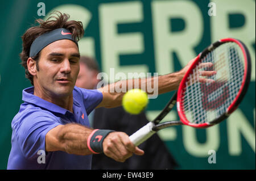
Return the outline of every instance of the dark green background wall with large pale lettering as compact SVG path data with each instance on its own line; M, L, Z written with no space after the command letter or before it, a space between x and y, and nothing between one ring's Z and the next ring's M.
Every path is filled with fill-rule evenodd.
M39 16L38 11L43 12L39 2L44 3L46 16ZM84 24L80 52L95 57L107 74L110 68L115 73L171 73L213 41L242 40L249 48L253 70L249 91L238 110L209 129L179 126L159 136L179 169L255 169L255 1L10 0L0 5L0 169L7 166L11 120L22 103L22 90L31 86L19 64L21 36L35 19L45 19L53 10L67 12ZM209 10L216 10L215 16ZM150 99L148 119L162 110L172 94ZM177 113L167 119L178 119ZM216 163L208 163L209 150L216 151Z

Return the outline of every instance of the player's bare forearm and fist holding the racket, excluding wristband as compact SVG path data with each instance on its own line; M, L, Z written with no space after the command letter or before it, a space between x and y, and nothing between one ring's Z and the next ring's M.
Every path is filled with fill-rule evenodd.
M79 124L58 125L46 134L46 151L65 151L69 154L93 154L87 140L93 129ZM111 132L103 141L104 154L115 161L124 162L131 155L142 155L143 150L134 146L123 132Z

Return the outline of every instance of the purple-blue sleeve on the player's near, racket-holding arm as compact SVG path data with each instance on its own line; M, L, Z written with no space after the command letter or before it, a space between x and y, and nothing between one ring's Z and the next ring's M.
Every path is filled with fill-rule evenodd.
M16 138L24 157L30 159L38 156L39 150L46 151L46 134L60 125L49 114L43 111L28 113L16 129Z

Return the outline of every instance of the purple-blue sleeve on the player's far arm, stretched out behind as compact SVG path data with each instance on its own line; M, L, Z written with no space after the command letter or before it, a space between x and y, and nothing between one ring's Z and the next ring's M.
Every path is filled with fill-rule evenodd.
M89 113L92 112L98 106L98 104L101 103L103 99L102 92L97 89L89 90L82 89L80 87L75 88L81 93L86 113L89 115Z

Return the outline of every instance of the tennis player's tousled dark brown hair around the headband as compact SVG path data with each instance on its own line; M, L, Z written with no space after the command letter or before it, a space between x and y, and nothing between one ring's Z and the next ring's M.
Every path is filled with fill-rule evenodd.
M30 57L30 47L33 41L43 35L46 32L58 29L58 28L66 28L69 30L73 35L73 39L79 41L84 36L84 28L82 27L82 22L77 22L75 20L68 20L68 14L62 14L59 11L54 11L52 14L56 16L50 16L46 21L43 19L36 19L35 22L39 23L39 26L34 26L29 28L24 35L22 36L22 52L19 54L20 59L22 60L21 64L25 68L26 78L28 78L32 85L33 82L33 75L30 74L27 68L27 60ZM39 70L38 61L40 58L40 52L36 54L36 56L31 57L33 60L36 61L36 69Z

